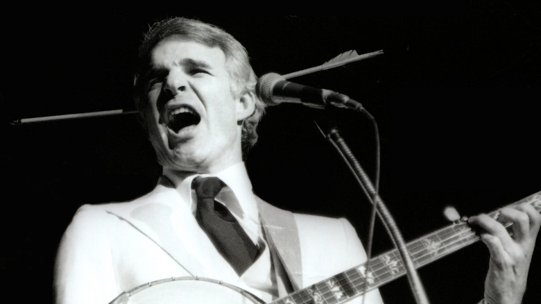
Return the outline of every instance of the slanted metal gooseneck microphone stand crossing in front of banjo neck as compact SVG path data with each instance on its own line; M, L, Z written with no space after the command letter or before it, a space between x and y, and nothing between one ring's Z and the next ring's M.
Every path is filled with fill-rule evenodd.
M355 110L358 110L359 112L364 112L365 115L368 115L370 119L374 120L372 115L370 115L370 113L368 113L364 108L357 107L355 108ZM393 244L395 244L395 247L397 248L402 257L402 261L404 262L406 274L410 283L411 290L413 292L413 296L415 296L416 303L429 304L427 294L426 292L424 292L424 287L422 286L422 282L418 276L417 271L415 270L413 261L411 260L411 256L406 248L406 243L404 242L402 233L400 233L400 230L395 223L395 219L393 219L393 216L388 211L384 201L381 199L374 185L370 181L368 174L366 174L361 164L354 157L349 146L347 146L347 143L338 132L338 128L336 126L329 125L328 121L325 120L325 127L322 128L317 121L314 120L314 122L316 123L316 126L322 133L323 137L329 140L332 146L334 146L338 153L340 153L347 166L350 167L355 178L357 178L357 182L359 183L359 185L361 185L365 194L368 196L369 201L372 203L372 205L374 205L374 208L376 208L376 211L379 214L381 220L383 221L384 226L388 234L390 235L391 240L393 241ZM367 265L366 268L368 269L369 267L370 265Z

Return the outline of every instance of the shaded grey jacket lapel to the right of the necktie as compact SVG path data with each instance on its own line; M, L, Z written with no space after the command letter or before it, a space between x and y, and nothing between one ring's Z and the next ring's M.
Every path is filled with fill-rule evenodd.
M267 242L277 253L294 289L302 287L302 257L293 213L276 208L257 197L261 225Z

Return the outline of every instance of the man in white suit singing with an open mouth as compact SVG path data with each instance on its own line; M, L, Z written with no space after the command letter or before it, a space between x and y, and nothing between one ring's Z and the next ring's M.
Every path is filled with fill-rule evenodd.
M271 302L366 262L347 220L293 214L253 194L243 157L257 141L265 110L256 83L246 50L220 28L183 18L151 27L141 44L135 100L163 175L153 191L134 201L83 205L76 212L58 251L58 303L110 303L137 287L151 290L149 282L173 278L194 278L173 292L181 296L193 294L190 284L200 278ZM227 205L221 210L230 210L228 221L238 221L255 248L252 264L242 270L203 230L198 199L200 181L208 176L219 178L216 201ZM482 239L491 253L485 297L490 304L519 303L541 216L521 205L503 210L500 219L515 223L513 237L484 214L470 218L486 230ZM305 295L316 303L320 296L363 300L341 283L328 284L327 295L314 289ZM223 303L225 294L213 287L194 297L214 296L214 303ZM377 289L363 296L364 303L383 303Z

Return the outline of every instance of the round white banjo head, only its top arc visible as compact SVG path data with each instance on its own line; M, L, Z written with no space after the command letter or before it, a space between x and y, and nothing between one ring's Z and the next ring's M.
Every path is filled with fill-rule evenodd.
M198 277L155 280L123 292L109 304L264 304L250 292L234 285Z

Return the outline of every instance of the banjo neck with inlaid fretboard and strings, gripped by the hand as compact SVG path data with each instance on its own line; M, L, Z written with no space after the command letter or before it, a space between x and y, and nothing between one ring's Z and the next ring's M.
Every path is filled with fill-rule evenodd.
M506 207L519 203L529 203L535 210L541 212L541 192L531 194ZM501 209L503 208L490 212L488 215L496 219ZM509 228L511 223L506 223L504 226ZM406 244L406 248L411 255L415 269L418 269L465 246L474 244L479 239L479 235L472 230L465 219L461 219L450 226L409 242ZM270 304L344 303L405 274L406 267L399 251L395 249L374 257L357 267L338 273L336 276L293 292Z

